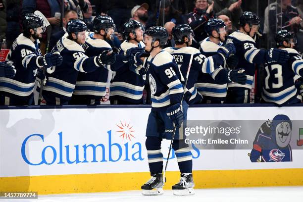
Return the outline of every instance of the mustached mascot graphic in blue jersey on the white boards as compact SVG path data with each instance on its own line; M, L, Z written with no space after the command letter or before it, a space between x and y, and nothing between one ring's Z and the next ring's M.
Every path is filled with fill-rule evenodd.
M267 120L259 128L253 150L249 153L252 162L293 161L291 141L292 121L279 114L272 121Z

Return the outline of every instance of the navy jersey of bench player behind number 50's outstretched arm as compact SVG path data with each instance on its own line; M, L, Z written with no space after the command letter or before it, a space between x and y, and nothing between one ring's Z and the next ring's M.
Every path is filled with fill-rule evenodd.
M88 57L99 56L104 50L111 50L110 45L102 40L95 39L94 33L87 32L85 44L82 45ZM90 99L101 99L106 94L108 70L98 68L93 72L79 72L74 95L85 96Z

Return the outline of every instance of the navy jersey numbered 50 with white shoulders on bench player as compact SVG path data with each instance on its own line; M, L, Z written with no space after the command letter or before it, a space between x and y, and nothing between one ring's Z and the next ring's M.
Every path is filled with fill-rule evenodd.
M79 72L92 72L99 68L98 57L88 57L84 49L76 42L69 40L64 35L53 48L63 57L60 66L47 69L48 81L43 89L43 94L66 101L71 99L75 89ZM101 65L101 68L104 66Z

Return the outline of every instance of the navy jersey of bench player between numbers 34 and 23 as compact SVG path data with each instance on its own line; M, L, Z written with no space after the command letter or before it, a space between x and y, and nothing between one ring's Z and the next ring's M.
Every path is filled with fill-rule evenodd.
M200 45L200 51L206 57L217 53L222 43L215 44L209 40L209 37L203 40ZM213 73L199 75L198 82L195 85L202 96L207 96L211 100L224 101L227 93L227 83L222 82L225 79L226 70L220 66ZM225 79L226 80L226 79Z

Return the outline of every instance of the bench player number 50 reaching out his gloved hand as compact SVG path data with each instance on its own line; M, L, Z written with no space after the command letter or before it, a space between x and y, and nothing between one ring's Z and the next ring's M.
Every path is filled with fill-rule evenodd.
M63 56L62 64L47 70L48 81L43 89L43 98L51 105L69 103L79 71L93 72L115 61L115 54L110 50L94 57L85 55L81 44L85 43L87 26L83 21L69 21L66 30L68 36L64 35L53 49Z

